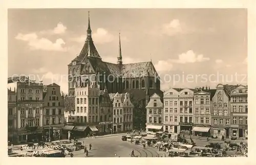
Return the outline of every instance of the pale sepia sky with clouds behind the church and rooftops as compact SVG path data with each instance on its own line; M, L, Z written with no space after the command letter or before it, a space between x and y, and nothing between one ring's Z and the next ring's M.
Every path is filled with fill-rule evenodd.
M123 63L152 61L162 90L247 84L246 9L9 9L8 77L30 75L67 93L89 10L102 60L116 63L120 32Z

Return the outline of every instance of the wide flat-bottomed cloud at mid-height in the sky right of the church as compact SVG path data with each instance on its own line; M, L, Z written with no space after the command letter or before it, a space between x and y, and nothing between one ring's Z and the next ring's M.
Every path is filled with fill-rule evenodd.
M179 59L170 59L173 63L195 63L195 62L203 62L208 61L210 58L204 57L204 55L196 55L192 50L187 51L186 53L182 53L179 55Z

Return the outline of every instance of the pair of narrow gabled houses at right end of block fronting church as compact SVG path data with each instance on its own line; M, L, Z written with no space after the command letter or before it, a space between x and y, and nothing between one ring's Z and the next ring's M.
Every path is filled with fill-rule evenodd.
M113 101L113 131L131 131L133 129L133 104L129 93L110 93Z

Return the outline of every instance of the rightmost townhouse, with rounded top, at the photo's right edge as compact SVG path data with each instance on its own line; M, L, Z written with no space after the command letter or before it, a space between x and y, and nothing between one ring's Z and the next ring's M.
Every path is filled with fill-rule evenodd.
M248 138L248 93L247 86L240 85L230 93L231 136Z

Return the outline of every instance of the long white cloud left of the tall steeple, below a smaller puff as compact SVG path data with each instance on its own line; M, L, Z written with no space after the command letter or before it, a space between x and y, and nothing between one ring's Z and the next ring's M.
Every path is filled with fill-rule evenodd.
M52 42L47 38L39 38L36 33L29 33L29 34L18 33L15 39L28 42L30 50L59 51L59 52L67 51L66 48L63 48L63 45L65 45L65 42L61 38L58 38L56 39L55 42Z

